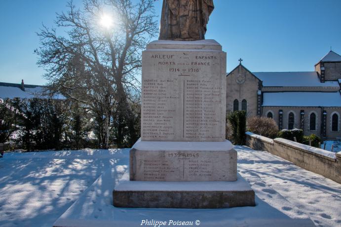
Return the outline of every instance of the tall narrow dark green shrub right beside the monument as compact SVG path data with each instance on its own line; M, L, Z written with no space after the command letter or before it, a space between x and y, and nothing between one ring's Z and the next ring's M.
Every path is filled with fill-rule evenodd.
M236 145L245 144L246 111L234 111L227 116L232 128L232 142Z

